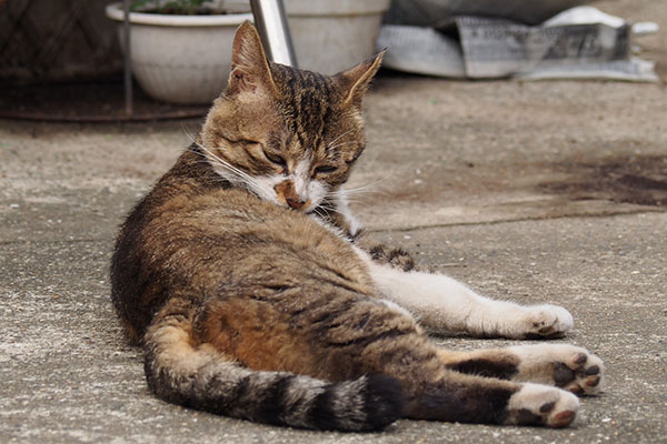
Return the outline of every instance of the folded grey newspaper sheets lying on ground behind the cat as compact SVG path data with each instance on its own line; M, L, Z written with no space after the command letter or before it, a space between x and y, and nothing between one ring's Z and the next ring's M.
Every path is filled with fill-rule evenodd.
M633 34L657 26L631 26L596 8L571 8L539 26L472 16L438 23L438 29L384 26L378 39L379 48L388 48L384 65L470 79L658 81L654 62L631 56Z

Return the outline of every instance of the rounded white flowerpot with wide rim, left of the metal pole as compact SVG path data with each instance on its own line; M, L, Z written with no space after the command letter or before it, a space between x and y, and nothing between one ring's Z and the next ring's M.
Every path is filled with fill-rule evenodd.
M130 54L135 78L153 99L210 103L225 89L231 42L239 24L252 20L247 1L138 0L130 7ZM119 22L121 2L107 7Z

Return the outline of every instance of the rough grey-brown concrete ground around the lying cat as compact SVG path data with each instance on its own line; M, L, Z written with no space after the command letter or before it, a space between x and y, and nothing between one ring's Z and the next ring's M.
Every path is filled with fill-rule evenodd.
M664 67L658 3L599 2L658 21L641 43ZM385 73L366 110L352 186L369 185L356 209L370 235L489 296L569 309L576 326L561 342L607 365L605 393L583 400L573 427L399 421L370 435L315 433L155 398L112 311L108 262L123 215L199 122L0 121L0 442L667 442L664 84Z

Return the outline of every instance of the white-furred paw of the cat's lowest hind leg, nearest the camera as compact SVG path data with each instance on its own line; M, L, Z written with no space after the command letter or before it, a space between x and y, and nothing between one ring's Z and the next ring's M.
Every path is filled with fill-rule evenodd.
M508 424L566 427L577 416L579 400L560 389L524 384L508 403Z

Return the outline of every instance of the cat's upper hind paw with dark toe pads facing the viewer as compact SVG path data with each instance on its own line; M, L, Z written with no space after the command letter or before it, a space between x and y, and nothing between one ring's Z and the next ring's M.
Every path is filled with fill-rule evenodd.
M554 362L556 385L578 395L595 395L603 390L604 364L584 349L571 347L569 356Z

